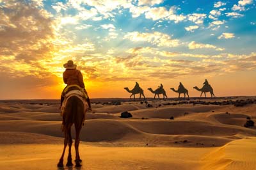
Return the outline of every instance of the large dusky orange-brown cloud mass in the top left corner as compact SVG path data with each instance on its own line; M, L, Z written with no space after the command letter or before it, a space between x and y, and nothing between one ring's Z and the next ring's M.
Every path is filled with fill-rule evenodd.
M20 61L35 61L49 55L54 37L54 22L36 8L22 1L4 1L0 8L0 53Z

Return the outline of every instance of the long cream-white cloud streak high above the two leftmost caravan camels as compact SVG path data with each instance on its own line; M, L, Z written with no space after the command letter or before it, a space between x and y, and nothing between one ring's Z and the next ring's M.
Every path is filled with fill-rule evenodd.
M139 33L138 31L127 33L124 39L129 39L132 42L149 42L159 47L177 47L179 45L179 40L172 39L170 35L153 32L153 33Z

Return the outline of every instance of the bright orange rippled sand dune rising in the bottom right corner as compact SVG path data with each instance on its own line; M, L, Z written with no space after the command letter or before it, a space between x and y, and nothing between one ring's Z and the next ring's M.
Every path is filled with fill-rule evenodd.
M256 137L232 141L202 159L202 169L241 170L256 168Z

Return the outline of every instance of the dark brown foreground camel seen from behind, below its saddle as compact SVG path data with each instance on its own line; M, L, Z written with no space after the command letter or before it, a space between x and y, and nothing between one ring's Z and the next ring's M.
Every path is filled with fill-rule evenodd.
M86 111L88 109L88 105L85 106ZM71 157L71 146L72 146L72 137L71 137L71 127L74 123L75 128L76 128L76 141L75 141L75 149L76 149L76 167L81 166L82 160L80 159L79 156L79 134L83 125L84 121L84 104L83 102L77 98L76 96L72 96L68 99L65 111L63 112L63 118L62 118L62 130L65 135L64 139L64 148L63 148L63 153L61 155L60 161L58 163L58 167L63 167L63 157L65 154L65 150L68 144L68 159L67 159L67 164L66 166L73 166L72 164L72 157Z

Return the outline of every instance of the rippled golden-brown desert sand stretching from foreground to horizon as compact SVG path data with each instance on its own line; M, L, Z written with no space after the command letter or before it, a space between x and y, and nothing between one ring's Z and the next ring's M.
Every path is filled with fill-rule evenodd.
M93 100L80 135L83 166L63 169L256 169L256 128L243 127L246 117L255 121L256 104L193 104L196 100ZM58 169L63 150L58 107L58 100L0 101L1 169ZM132 118L120 118L124 111ZM74 145L72 154L74 160Z

